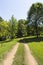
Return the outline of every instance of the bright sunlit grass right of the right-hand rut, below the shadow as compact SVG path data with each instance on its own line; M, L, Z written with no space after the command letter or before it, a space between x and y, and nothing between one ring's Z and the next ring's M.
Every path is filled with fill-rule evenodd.
M32 42L28 44L31 53L36 58L39 65L43 65L43 42Z

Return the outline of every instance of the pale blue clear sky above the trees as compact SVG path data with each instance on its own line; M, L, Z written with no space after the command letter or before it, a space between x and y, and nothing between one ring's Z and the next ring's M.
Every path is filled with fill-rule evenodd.
M0 0L0 16L9 20L12 15L19 19L26 19L30 6L35 2L43 3L43 0Z

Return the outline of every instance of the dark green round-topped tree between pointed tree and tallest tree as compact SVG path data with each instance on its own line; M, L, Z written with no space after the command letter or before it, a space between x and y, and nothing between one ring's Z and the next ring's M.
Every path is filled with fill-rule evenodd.
M25 22L26 21L23 19L20 19L18 21L18 32L17 32L18 37L23 37L27 35Z

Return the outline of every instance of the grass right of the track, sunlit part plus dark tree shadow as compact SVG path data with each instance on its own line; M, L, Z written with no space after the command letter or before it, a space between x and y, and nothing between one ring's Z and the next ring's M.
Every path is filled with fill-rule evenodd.
M36 58L39 65L43 65L43 36L36 38L35 36L25 37L19 40L20 43L28 43L31 53Z

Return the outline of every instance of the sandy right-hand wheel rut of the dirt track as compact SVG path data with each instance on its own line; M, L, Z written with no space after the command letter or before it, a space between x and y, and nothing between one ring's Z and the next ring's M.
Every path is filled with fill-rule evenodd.
M25 46L25 63L26 65L38 65L35 58L32 56L29 46L27 44L24 44Z

